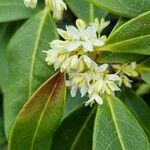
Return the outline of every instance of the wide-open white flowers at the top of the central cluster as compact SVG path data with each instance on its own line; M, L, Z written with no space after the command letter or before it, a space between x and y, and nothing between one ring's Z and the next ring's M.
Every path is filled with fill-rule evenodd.
M66 47L67 51L75 51L82 47L84 52L93 51L96 46L103 46L104 41L97 38L97 27L91 25L86 27L83 20L76 21L77 28L74 26L67 26L66 30L57 29L58 33L68 41Z

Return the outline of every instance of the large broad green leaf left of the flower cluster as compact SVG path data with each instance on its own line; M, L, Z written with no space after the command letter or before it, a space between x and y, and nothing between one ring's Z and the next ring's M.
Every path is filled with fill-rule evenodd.
M9 85L4 103L7 135L24 103L49 76L54 74L52 67L45 62L46 54L43 50L48 50L48 42L55 38L55 23L49 10L45 9L29 19L10 41Z

